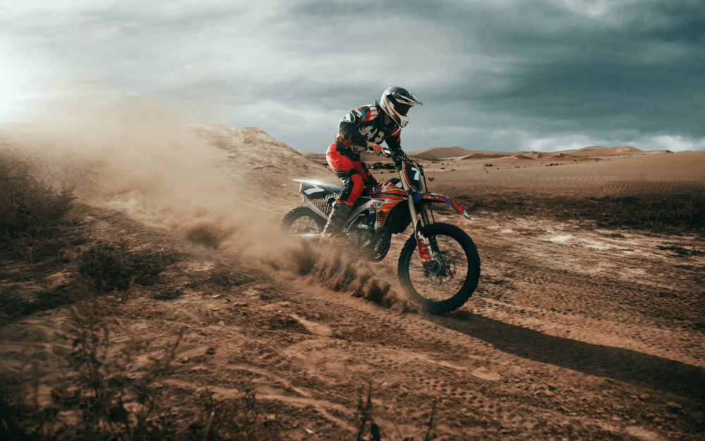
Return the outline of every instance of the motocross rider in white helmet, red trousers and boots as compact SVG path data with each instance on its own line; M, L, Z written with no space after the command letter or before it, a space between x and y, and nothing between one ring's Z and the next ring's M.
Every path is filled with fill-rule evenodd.
M333 210L328 219L321 241L344 243L341 226L357 198L360 198L364 186L374 186L377 181L360 159L364 151L384 154L381 145L386 140L391 150L400 147L401 129L409 122L407 111L414 104L423 104L402 87L387 87L379 104L357 107L343 116L336 140L328 147L326 160L331 170L343 181L343 192L333 203Z

